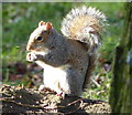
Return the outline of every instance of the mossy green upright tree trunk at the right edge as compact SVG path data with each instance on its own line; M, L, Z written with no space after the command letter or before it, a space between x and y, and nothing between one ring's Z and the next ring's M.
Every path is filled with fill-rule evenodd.
M120 34L120 33L119 33ZM125 3L123 35L116 49L110 104L113 113L132 114L132 2Z

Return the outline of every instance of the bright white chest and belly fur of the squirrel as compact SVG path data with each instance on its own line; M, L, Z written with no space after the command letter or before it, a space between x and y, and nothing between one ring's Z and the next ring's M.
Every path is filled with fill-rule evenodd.
M53 91L57 90L63 90L65 92L69 91L67 79L68 77L67 70L69 69L69 65L54 67L45 64L42 61L36 61L36 63L44 69L43 82L46 87L50 87Z

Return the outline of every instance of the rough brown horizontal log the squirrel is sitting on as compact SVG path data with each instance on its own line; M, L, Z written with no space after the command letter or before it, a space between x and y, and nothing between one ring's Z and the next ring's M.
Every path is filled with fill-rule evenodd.
M40 92L36 90L20 86L3 85L0 87L0 106L2 113L13 114L38 114L56 113L59 115L73 113L110 113L110 105L107 102L85 100L80 97L66 96L62 98L54 92Z

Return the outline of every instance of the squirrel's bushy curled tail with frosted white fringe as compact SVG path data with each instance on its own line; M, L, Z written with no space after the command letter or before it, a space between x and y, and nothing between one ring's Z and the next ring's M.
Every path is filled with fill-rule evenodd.
M100 43L100 30L106 25L106 15L92 7L73 9L62 23L62 32L68 39L75 39L91 48ZM92 51L90 51L92 52Z

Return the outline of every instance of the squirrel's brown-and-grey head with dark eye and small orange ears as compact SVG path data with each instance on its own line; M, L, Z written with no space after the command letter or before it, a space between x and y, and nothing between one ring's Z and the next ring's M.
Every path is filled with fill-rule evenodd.
M51 30L53 29L52 23L41 21L38 27L31 33L30 40L28 42L28 51L41 51L44 50L44 45L48 40Z

